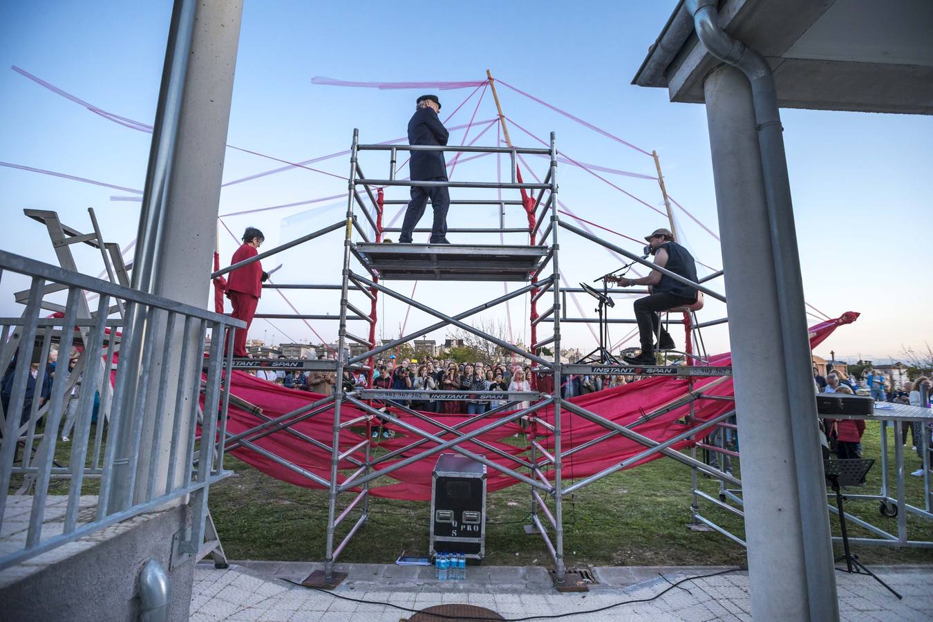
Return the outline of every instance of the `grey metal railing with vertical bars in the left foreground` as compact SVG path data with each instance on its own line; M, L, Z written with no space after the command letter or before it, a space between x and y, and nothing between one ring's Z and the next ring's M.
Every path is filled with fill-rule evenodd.
M0 569L188 495L192 524L175 552L196 553L208 488L227 475L228 329L244 323L0 251L0 280L21 277L25 311L0 318ZM40 317L49 285L64 311ZM115 301L123 316L111 319ZM59 352L54 366L49 352ZM118 366L121 354L142 364Z

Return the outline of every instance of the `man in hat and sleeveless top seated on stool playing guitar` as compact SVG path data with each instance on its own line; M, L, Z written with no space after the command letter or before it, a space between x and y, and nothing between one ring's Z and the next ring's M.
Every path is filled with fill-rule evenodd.
M654 265L679 274L696 283L697 265L689 251L674 241L674 234L666 228L655 229L645 240L650 245L651 255L654 256ZM647 250L647 249L646 249ZM659 311L667 311L675 307L692 305L697 301L697 289L688 284L675 281L658 270L651 270L648 276L638 279L616 277L613 279L623 287L632 285L650 285L650 292L646 297L638 298L634 303L635 321L638 323L638 336L641 339L641 354L638 356L625 356L625 361L632 365L656 365L654 357L654 336L658 334L660 318ZM658 339L659 350L674 350L674 339L668 335L661 326L661 335Z

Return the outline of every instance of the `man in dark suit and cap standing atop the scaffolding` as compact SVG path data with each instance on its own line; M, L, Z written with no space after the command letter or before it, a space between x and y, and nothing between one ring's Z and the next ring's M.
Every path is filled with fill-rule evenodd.
M440 122L440 100L437 95L422 95L418 98L414 115L409 121L409 145L447 145L450 136L447 128ZM411 181L447 181L447 163L443 151L411 151ZM434 208L434 222L431 225L432 244L447 242L447 209L451 205L451 195L447 187L412 186L411 200L405 211L402 232L398 242L411 243L411 232L421 216L425 214L425 205L430 198Z

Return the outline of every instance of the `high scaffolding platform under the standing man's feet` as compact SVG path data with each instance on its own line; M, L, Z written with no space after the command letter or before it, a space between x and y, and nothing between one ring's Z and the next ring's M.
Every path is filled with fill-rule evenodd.
M543 246L356 243L354 255L383 281L531 280L549 255Z

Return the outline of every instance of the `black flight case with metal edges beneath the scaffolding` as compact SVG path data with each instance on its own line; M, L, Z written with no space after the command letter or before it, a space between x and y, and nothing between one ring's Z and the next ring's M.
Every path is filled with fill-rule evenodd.
M486 465L456 453L442 453L431 487L431 556L486 555Z

